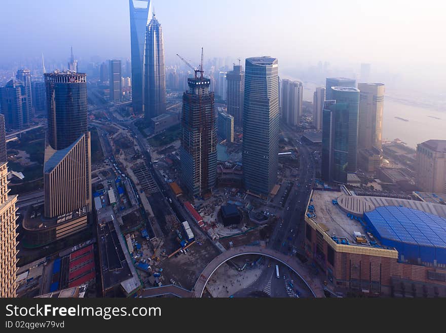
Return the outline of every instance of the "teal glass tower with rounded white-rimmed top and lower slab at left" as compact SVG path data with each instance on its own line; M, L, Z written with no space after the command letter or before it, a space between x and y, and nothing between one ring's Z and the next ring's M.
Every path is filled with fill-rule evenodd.
M357 167L359 90L330 87L329 96L322 119L322 178L347 183L347 173Z

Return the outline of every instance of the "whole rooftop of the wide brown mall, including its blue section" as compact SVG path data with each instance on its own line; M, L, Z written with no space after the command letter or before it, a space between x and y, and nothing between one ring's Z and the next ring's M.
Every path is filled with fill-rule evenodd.
M410 228L410 221L414 224L413 221L417 220L418 222L415 224L423 225L423 227L420 227L423 230L411 231L420 235L416 239L421 240L423 235L428 235L429 228L431 230L435 229L438 234L437 237L432 236L431 242L440 244L444 241L446 246L446 234L444 234L446 232L446 205L406 199L348 196L342 192L333 191L313 191L311 199L310 206L314 206L312 220L330 237L346 238L349 244L361 245L356 243L354 233L360 232L366 236L364 220L367 216L372 218L373 221L376 218L377 226L379 226L380 223L383 224L384 222L380 221L378 217L384 215L384 221L394 224L394 228L398 230L403 228L400 225L406 226L407 229ZM397 218L393 215L393 212L397 215ZM311 215L313 211L307 209L307 213ZM420 219L423 219L423 221L420 222ZM407 222L405 222L406 220ZM443 227L435 227L434 224L444 225L442 225ZM381 229L377 227L376 230ZM384 231L382 233L387 235ZM400 234L401 237L405 235L404 232ZM366 238L370 240L367 236Z

